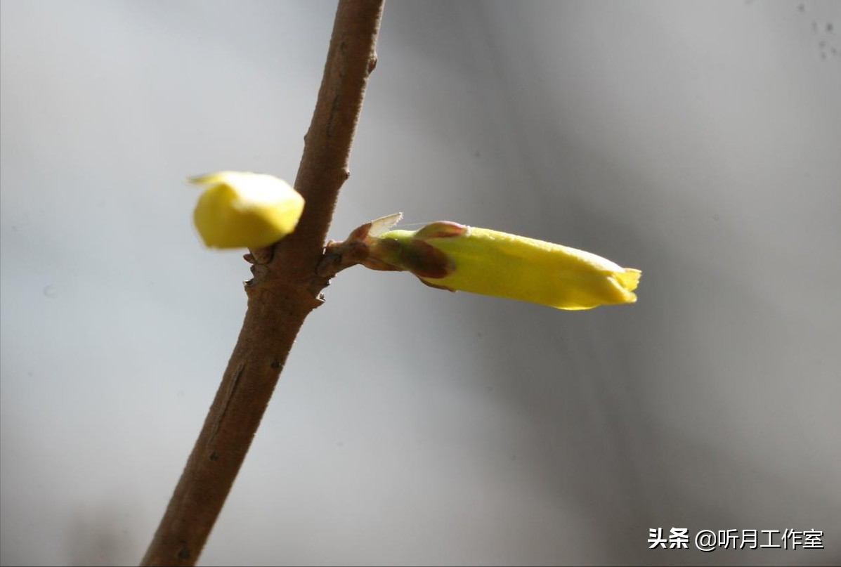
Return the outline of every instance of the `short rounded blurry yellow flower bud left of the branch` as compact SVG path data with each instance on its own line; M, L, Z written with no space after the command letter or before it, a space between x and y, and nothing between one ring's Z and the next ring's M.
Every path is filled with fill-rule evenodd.
M204 244L262 248L295 230L304 198L283 179L251 172L216 172L189 179L204 185L193 213Z

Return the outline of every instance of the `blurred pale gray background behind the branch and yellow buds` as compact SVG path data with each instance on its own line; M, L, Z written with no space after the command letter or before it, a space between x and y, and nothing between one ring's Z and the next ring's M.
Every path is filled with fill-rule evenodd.
M294 178L335 4L0 7L0 563L136 564L246 305L182 180ZM839 50L838 2L388 3L331 236L533 236L639 301L341 273L201 563L841 563Z

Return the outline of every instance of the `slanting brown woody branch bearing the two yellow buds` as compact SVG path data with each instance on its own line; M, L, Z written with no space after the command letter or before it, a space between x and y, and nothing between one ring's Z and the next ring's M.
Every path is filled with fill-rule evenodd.
M375 53L384 0L341 0L295 188L296 231L252 251L248 309L204 427L141 565L193 565L257 432L288 352L327 283L315 268L347 165Z

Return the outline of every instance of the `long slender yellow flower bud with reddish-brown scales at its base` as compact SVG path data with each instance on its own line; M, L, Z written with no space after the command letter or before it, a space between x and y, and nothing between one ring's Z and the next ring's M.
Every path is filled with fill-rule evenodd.
M436 288L565 310L637 300L641 272L590 252L446 221L419 231L383 231L397 220L389 215L352 233L348 241L355 238L358 246L361 240L367 249L362 264L409 271Z

